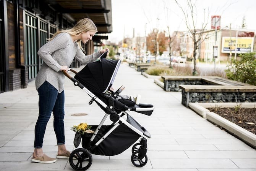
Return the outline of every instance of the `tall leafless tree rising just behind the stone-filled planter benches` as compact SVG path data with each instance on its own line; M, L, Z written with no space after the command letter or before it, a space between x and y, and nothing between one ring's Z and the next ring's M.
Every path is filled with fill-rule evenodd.
M193 58L194 58L194 69L193 69L193 76L197 75L196 71L196 51L199 47L199 43L202 43L207 36L205 36L202 39L202 35L204 31L206 30L207 22L209 19L209 9L206 11L204 9L204 20L201 25L201 28L196 29L196 23L197 23L197 9L196 9L196 2L192 2L192 0L186 0L188 5L188 10L185 10L177 0L175 0L181 11L183 12L183 15L185 17L185 23L186 27L188 28L189 35L194 43L194 50L193 50Z

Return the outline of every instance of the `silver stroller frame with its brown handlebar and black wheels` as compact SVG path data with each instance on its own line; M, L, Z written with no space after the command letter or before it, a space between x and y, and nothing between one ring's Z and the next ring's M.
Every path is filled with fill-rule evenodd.
M73 72L73 73L75 73L75 74L77 73L73 69L69 68L68 70ZM88 148L87 147L84 148L84 146L83 146L83 139L82 139L83 149L81 149L81 148L75 149L71 153L70 158L69 158L71 167L73 169L75 169L75 170L86 170L86 169L88 169L91 166L91 164L92 164L91 152L94 149L96 149L121 124L125 124L128 128L130 128L132 131L137 133L138 137L142 137L139 143L136 143L136 144L134 144L134 142L132 143L134 145L132 147L131 162L136 167L142 167L142 166L146 165L146 163L147 163L147 155L146 155L146 152L147 152L147 139L151 138L151 135L150 135L150 133L144 127L141 127L141 125L137 121L133 120L133 125L132 125L127 120L125 120L123 117L126 116L127 118L129 117L129 118L133 119L126 111L152 111L152 110L154 110L154 106L149 106L149 107L146 107L146 108L145 107L140 108L139 106L138 106L138 108L137 107L125 106L126 111L122 111L119 114L117 114L113 110L113 106L106 105L102 100L100 100L99 97L97 97L96 95L94 95L94 93L92 93L90 90L88 90L86 87L84 87L78 80L76 80L75 78L71 77L66 71L63 71L63 73L71 81L73 81L75 86L80 87L82 90L84 90L92 98L91 101L89 101L89 105L91 105L93 101L96 101L98 103L98 105L101 105L105 109L104 110L105 111L105 115L104 115L103 119L100 121L99 125L96 125L97 128L96 128L95 132L93 133L93 135L90 138L89 147ZM113 97L109 97L110 101L111 100L115 100L117 95L120 92L122 92L122 90L123 89L121 89L121 90L118 89L113 94ZM146 104L143 104L143 105L146 105ZM102 128L102 126L105 123L105 120L107 119L108 116L110 116L110 120L113 122L111 124L113 127L110 128L110 130L108 130L105 133L104 136L99 138L95 144L93 144L92 142L94 142L96 136L98 135L100 129ZM137 140L138 140L138 138L136 139L136 141ZM118 154L120 154L122 152L118 152ZM99 154L99 155L117 155L117 154ZM74 159L77 160L78 163L75 164L74 163ZM88 162L86 166L83 166L83 162L84 161Z

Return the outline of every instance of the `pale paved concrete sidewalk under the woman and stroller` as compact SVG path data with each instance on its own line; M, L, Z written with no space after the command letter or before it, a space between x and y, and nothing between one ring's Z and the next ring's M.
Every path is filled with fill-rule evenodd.
M131 163L131 147L120 155L92 155L94 171L256 171L256 150L181 105L180 92L165 92L153 79L122 64L113 87L124 85L122 94L141 94L141 103L155 106L152 116L131 113L150 133L147 164ZM68 150L75 149L72 125L98 125L104 111L73 82L65 81L65 136ZM28 88L0 94L0 170L73 170L68 160L52 164L31 162L34 125L38 115L38 95L34 81ZM86 116L71 116L87 114ZM44 152L56 157L57 144L51 118L44 137Z

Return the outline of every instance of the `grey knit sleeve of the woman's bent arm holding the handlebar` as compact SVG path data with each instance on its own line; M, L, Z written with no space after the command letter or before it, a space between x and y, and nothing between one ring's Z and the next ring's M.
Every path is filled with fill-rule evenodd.
M44 44L44 46L39 49L37 54L42 58L46 65L58 72L60 71L61 66L55 59L53 59L52 53L59 49L65 48L69 45L69 42L70 36L68 33L59 33L55 38L53 38L53 40Z

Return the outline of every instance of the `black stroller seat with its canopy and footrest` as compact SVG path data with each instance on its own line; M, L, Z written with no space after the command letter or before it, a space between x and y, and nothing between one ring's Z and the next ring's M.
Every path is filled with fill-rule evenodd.
M116 113L128 110L150 116L154 110L153 105L136 105L129 99L117 100L119 93L124 89L123 86L112 95L107 95L106 92L109 90L109 87L112 87L120 64L121 60L108 60L104 57L100 57L100 60L88 63L81 71L76 73L74 78L79 82L78 84L82 84L92 93L92 100L89 104L91 104L96 98L99 98L105 105L109 106L109 108L112 106ZM109 112L105 106L102 106L100 103L97 104L105 112Z

